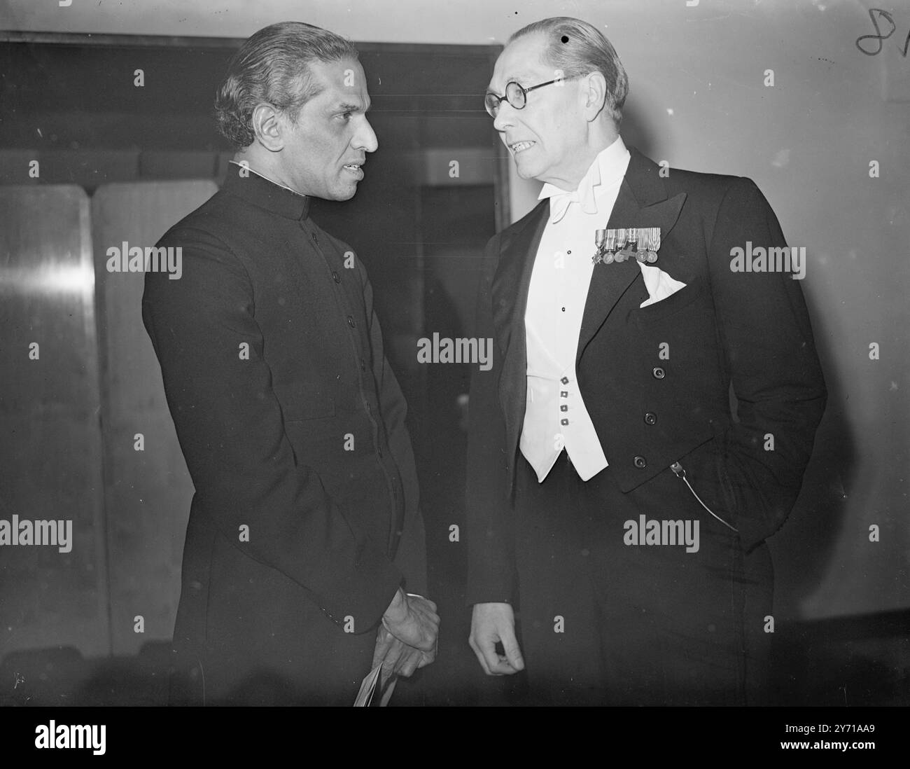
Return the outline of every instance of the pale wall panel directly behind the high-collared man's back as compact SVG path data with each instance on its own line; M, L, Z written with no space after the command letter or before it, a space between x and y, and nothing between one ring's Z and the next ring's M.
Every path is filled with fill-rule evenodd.
M101 350L105 507L116 654L171 637L193 485L142 324L145 274L108 272L107 249L154 246L217 191L211 181L99 187L92 198ZM143 450L136 450L141 434ZM144 621L135 632L135 618Z

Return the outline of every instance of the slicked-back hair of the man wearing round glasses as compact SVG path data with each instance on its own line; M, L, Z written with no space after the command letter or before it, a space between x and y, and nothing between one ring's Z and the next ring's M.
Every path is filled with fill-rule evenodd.
M595 70L604 76L607 81L604 109L619 125L622 106L629 95L629 76L616 49L601 30L571 16L553 16L521 27L509 42L535 33L545 35L547 40L544 63L561 70L562 77L590 75Z

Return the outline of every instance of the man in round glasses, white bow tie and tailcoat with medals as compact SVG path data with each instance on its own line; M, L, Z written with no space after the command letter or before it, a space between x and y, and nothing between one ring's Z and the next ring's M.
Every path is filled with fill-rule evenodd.
M490 79L519 176L545 184L479 292L498 347L470 391L470 645L539 702L759 703L765 539L826 398L801 268L750 179L624 146L627 90L565 17L512 35Z

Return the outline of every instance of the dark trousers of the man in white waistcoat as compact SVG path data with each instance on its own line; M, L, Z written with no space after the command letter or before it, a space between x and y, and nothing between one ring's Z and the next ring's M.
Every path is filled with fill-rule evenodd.
M669 469L623 494L563 451L542 483L520 458L519 625L531 697L551 704L762 703L773 575ZM631 545L625 521L699 521L699 550Z

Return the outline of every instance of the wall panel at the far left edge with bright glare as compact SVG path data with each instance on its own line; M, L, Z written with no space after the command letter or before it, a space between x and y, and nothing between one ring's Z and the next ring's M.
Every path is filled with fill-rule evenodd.
M0 546L0 659L56 646L106 654L88 199L79 187L0 187L0 222L0 521L72 527L68 552Z

